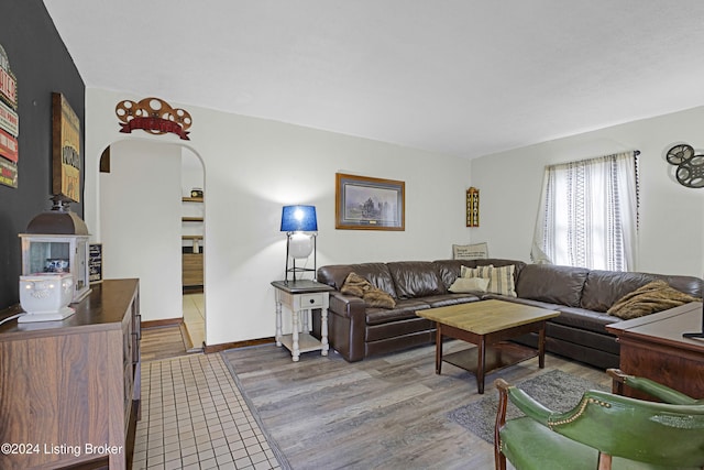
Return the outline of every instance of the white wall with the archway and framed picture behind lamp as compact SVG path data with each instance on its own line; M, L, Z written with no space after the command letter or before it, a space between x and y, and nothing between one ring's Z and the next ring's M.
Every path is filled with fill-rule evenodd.
M193 117L190 141L143 131L119 133L116 103L142 98L86 91L85 220L94 230L113 217L99 201L103 183L98 178L99 156L110 143L129 139L185 144L202 160L207 345L274 335L270 283L284 276L285 236L279 232L284 205L317 207L319 266L450 258L452 243L469 242L466 160L175 102L170 105L182 106ZM404 181L406 230L336 230L336 172ZM135 190L143 201L154 193L144 186ZM95 240L106 237L103 228L94 230ZM156 264L145 269L162 270Z

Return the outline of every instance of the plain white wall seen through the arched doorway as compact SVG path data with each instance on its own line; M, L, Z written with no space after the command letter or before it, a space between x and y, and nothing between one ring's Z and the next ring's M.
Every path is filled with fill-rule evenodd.
M103 277L140 278L142 319L183 317L180 147L117 142L99 181Z

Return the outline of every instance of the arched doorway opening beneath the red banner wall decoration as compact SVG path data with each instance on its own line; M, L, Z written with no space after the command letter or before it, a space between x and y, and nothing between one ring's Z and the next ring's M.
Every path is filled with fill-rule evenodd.
M142 323L182 324L185 348L202 350L205 198L191 203L190 193L194 188L205 192L204 164L179 144L135 139L114 142L109 149L109 165L103 153L99 176L103 276L139 277ZM196 206L196 211L186 210L187 206ZM198 285L193 277L185 278L186 254L200 260ZM195 313L201 318L200 328L191 321L193 331L185 324L187 317L194 319L193 302L184 310L185 286L189 294L198 294Z

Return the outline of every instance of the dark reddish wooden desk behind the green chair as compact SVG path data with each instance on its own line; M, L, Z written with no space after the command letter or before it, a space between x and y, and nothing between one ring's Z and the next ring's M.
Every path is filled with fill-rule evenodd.
M620 370L704 398L704 340L683 338L702 331L702 303L607 325L618 337ZM623 394L647 397L624 386Z

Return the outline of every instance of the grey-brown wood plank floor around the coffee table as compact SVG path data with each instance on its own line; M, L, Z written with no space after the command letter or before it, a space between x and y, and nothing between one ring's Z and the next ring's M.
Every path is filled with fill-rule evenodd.
M446 343L446 351L466 348ZM435 373L435 347L348 363L331 352L310 352L299 362L273 345L223 352L265 427L299 469L492 469L493 446L446 414L481 400L473 375L443 364ZM531 359L486 379L510 383L562 370L609 385L601 370L548 356L546 369ZM508 467L513 469L513 467Z

